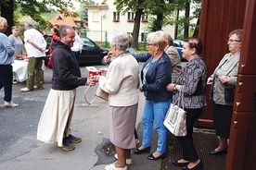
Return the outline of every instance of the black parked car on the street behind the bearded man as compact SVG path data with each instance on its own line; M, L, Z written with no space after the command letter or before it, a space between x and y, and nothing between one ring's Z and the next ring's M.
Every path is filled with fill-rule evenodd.
M51 35L45 35L45 41L47 42L46 55L48 56L49 44L51 42ZM80 55L78 55L77 62L79 65L82 64L101 64L105 65L104 56L108 55L109 50L101 48L93 42L91 39L86 37L81 37L83 40L83 49ZM45 63L47 63L47 57L45 58Z

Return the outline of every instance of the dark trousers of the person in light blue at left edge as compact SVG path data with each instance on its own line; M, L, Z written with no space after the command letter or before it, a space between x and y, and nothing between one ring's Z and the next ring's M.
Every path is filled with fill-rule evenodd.
M12 66L11 65L0 65L0 90L4 88L5 97L4 100L6 102L11 101L12 95Z

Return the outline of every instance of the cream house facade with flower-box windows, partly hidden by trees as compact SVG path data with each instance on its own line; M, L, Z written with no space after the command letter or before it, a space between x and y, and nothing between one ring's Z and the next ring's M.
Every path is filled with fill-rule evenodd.
M85 34L95 42L106 42L108 33L112 30L122 30L127 33L132 33L134 30L135 14L133 12L118 13L114 0L103 1L94 6L85 6L85 8L88 10L88 31ZM145 41L147 25L147 16L142 16L138 37L139 42ZM173 26L168 26L163 28L163 31L173 36L174 28Z

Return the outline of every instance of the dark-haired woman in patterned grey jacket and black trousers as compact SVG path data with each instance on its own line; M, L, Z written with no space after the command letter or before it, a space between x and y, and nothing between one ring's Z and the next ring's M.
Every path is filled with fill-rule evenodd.
M193 144L192 133L194 121L201 114L203 106L206 105L207 68L199 57L202 53L202 42L198 38L186 39L182 53L188 63L177 75L174 83L167 86L167 89L173 91L173 101L178 100L179 92L184 94L184 102L180 102L180 107L184 104L187 134L184 137L176 137L182 146L183 157L180 160L172 161L172 163L176 166L186 166L185 170L195 170L203 166Z

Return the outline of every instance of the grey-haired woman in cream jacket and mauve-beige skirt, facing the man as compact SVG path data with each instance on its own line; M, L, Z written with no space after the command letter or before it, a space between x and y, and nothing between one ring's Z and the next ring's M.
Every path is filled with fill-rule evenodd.
M131 149L135 148L134 128L138 107L139 65L126 51L129 47L128 35L114 31L109 40L115 59L109 65L106 77L98 79L100 88L109 92L109 138L115 145L118 161L109 164L106 170L126 170L131 164Z

